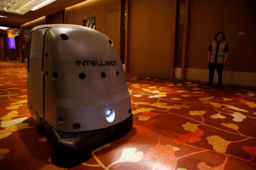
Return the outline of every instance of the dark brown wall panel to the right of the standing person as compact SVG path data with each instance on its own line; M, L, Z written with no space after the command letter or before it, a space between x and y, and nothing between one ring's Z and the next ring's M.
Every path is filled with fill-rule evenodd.
M255 18L255 0L225 0L222 31L230 52L224 70L256 72Z

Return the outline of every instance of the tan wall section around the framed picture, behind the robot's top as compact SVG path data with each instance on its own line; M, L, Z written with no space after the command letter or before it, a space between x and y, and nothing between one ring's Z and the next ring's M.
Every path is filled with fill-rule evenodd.
M96 30L106 34L119 51L120 44L120 0L85 1L66 8L67 24L82 25L82 20L95 16Z

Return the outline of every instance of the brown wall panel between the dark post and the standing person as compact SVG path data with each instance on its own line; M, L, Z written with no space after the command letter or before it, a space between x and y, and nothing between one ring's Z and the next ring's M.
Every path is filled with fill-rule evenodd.
M221 31L223 0L193 0L188 68L208 68L207 50Z

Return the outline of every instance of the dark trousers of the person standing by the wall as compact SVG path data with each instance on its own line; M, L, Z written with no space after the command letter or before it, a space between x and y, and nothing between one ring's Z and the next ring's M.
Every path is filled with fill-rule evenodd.
M209 84L213 83L214 72L215 68L217 67L218 73L218 86L222 84L222 71L223 71L223 64L222 63L209 63Z

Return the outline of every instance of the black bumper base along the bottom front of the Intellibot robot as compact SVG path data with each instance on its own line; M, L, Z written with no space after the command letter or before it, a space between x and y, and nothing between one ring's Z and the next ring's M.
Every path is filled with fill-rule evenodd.
M93 150L125 135L133 127L133 114L126 120L108 128L77 133L63 133L46 126L46 136L57 150Z

